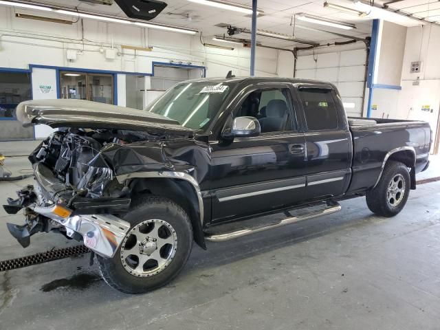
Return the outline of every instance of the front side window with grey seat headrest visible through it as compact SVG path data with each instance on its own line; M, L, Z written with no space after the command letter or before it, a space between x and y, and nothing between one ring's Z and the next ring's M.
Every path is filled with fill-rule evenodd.
M257 118L261 133L292 131L293 112L289 99L287 88L256 90L245 98L236 116Z

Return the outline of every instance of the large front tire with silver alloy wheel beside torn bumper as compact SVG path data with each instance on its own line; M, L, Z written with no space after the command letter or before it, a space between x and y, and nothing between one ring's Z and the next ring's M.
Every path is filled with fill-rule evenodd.
M131 223L131 229L115 256L111 259L97 256L97 259L107 284L120 292L142 294L166 285L179 274L190 256L193 235L188 214L174 201L148 196L134 204L123 218ZM156 237L156 241L153 242L152 237ZM139 243L141 239L144 244ZM166 242L162 248L160 242ZM162 252L166 261L162 259ZM154 259L145 261L153 256Z

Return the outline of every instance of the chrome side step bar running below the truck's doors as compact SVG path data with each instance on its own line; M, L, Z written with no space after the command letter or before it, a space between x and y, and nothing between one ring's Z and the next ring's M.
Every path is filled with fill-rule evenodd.
M298 217L289 217L286 219L283 219L276 223L270 223L269 225L263 225L259 227L254 228L242 228L240 230L234 230L232 232L225 232L222 234L212 234L205 236L206 241L212 241L212 242L225 242L229 241L230 239L237 239L239 237L247 236L249 234L254 234L255 232L263 232L265 230L270 230L272 228L278 228L283 225L289 225L291 223L296 223L299 221L312 219L316 217L322 217L323 215L335 213L341 210L341 206L339 203L332 203L331 205L327 206L327 208L316 210L309 212L307 214L300 215Z

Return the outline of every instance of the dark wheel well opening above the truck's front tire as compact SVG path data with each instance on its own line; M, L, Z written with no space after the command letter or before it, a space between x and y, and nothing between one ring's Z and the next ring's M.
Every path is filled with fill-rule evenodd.
M129 184L131 195L151 194L175 201L190 217L195 242L206 250L205 238L200 222L199 199L194 187L181 179L133 179Z

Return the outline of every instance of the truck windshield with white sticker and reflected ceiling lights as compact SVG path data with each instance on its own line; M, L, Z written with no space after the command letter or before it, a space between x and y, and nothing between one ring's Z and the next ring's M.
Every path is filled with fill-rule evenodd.
M181 126L190 129L204 129L231 89L230 83L182 83L168 89L145 110L177 120Z

